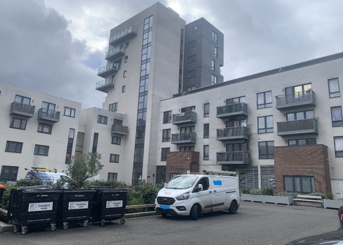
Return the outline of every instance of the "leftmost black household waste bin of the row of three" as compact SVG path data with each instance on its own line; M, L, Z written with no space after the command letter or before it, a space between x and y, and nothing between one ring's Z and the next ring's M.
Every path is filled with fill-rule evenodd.
M28 226L48 226L56 229L56 213L61 190L13 189L10 193L7 219L14 231L28 232Z

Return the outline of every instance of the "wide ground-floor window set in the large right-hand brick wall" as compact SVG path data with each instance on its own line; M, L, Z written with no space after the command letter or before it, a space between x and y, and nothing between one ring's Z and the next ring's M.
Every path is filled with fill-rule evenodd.
M315 192L315 178L313 176L284 176L284 185L286 192Z

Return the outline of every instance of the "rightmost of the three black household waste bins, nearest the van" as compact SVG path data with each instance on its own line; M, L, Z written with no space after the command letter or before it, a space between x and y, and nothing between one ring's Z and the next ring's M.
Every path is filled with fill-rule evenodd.
M123 188L94 188L92 223L101 222L105 226L106 221L115 221L120 219L124 224L124 214L128 189Z

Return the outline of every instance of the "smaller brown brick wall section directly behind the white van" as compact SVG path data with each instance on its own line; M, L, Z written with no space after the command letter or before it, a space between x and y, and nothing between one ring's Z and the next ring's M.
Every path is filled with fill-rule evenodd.
M199 172L199 152L173 151L167 153L166 182L170 180L171 173Z

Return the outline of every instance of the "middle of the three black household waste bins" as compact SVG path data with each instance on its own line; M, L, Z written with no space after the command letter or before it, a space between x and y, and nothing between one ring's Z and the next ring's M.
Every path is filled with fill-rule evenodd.
M57 224L68 229L70 224L81 223L87 227L91 218L94 190L63 190L57 210Z

